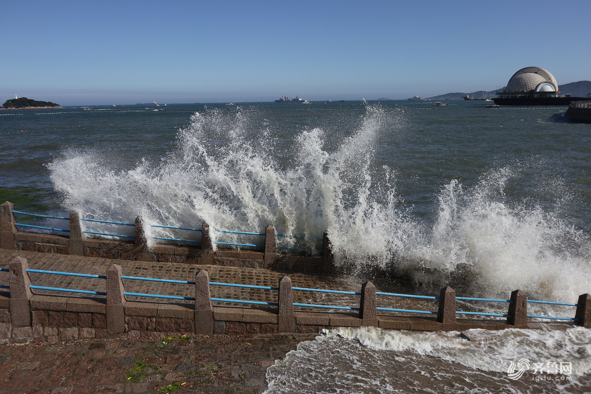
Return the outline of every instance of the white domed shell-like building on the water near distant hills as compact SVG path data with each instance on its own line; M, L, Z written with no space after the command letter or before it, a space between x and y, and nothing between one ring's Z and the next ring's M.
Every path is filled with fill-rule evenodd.
M524 67L507 82L502 92L496 92L495 104L500 105L569 105L570 95L558 96L554 76L541 67Z

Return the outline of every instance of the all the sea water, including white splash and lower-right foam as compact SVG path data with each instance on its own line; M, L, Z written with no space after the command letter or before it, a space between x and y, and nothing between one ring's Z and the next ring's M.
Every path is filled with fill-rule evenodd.
M1 198L22 211L66 215L76 209L114 221L142 215L151 224L194 228L207 221L249 232L273 224L281 234L304 238L281 238L282 246L316 256L322 249L317 238L327 231L337 264L353 267L354 275L377 268L415 293L449 284L463 296L506 299L521 289L530 298L572 303L591 290L591 126L565 120L566 108L491 109L464 101L446 107L402 101L143 107L1 111ZM152 237L198 237L146 230ZM213 234L256 244L249 236ZM538 311L570 316L571 309ZM343 348L323 361L334 364L361 347L374 367L383 353L410 357L417 370L435 359L462 365L466 374L501 374L506 366L499 360L510 347L499 345L495 366L487 367L450 355L452 345L441 345L439 353L410 346L400 356L400 348L359 339L386 334L363 330L327 332L298 351ZM577 331L584 360L587 331ZM388 335L416 343L425 337L458 341L452 334ZM567 341L570 331L560 335ZM505 358L529 354L540 342ZM283 370L303 363L297 354L288 360ZM576 368L583 371L576 376L587 376L584 365ZM293 376L282 378L281 370L270 369L269 382ZM483 385L457 390L492 390ZM388 392L384 387L375 392Z

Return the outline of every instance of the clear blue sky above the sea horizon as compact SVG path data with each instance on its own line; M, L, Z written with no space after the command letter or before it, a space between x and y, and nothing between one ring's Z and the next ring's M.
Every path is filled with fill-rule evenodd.
M0 0L0 102L427 97L591 80L590 1Z

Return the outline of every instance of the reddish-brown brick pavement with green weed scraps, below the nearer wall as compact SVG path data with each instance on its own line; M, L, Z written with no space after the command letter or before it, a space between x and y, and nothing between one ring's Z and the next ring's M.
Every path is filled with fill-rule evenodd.
M244 393L309 334L0 345L0 394Z

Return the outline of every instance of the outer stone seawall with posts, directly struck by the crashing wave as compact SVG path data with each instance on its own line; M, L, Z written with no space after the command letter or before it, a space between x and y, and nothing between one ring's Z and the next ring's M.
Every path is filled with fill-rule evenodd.
M74 254L115 260L217 264L230 267L278 269L287 272L328 273L333 267L333 254L330 251L330 240L326 233L323 235L322 257L279 254L273 226L265 228L265 244L262 251L219 248L214 251L214 243L209 236L210 229L206 222L202 223L202 228L197 229L201 232L202 240L191 241L199 243L200 246L156 244L149 248L141 217L135 219L135 236L124 238L131 238L132 241L114 241L86 238L79 214L75 211L70 212L70 229L65 231L69 235L18 231L18 223L13 211L14 205L11 202L7 201L0 206L0 247L4 249ZM124 236L119 235L119 237Z

